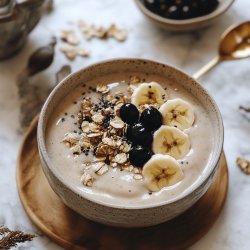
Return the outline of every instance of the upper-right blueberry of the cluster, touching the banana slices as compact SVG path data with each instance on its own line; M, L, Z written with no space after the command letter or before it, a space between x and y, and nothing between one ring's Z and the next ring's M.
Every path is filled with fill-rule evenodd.
M140 122L150 131L158 129L162 125L162 115L158 109L149 107L143 110Z

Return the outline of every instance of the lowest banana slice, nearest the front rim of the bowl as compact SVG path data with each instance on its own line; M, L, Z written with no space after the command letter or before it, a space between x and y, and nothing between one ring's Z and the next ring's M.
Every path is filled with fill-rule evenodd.
M179 163L169 155L156 154L144 165L142 175L150 191L159 191L184 178Z

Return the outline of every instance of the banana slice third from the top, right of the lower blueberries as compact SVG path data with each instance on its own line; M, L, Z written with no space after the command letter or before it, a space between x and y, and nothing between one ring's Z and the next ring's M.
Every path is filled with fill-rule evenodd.
M175 159L185 156L190 149L187 134L175 127L161 126L154 133L153 152L171 155Z

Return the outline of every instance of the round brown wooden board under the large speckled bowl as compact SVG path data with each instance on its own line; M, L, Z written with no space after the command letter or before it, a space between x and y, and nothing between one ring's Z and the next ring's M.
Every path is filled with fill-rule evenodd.
M49 186L40 166L36 117L24 136L17 162L17 187L31 221L66 249L185 249L198 241L220 214L228 190L224 154L207 193L188 211L158 226L123 229L81 217L64 205Z

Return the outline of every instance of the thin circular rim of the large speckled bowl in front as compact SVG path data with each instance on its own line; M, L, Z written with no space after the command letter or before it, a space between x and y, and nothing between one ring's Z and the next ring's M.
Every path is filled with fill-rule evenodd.
M117 63L117 62L133 62L133 61L137 61L137 62L147 62L147 63L151 63L151 64L156 64L158 66L165 66L170 68L171 70L174 70L176 72L178 72L179 74L184 75L185 77L187 77L188 79L192 80L193 83L195 85L197 85L202 91L203 93L208 97L209 101L211 102L213 108L215 109L216 112L216 117L218 120L218 128L219 128L219 145L217 146L217 151L214 152L214 157L213 159L209 162L209 165L207 166L208 170L205 172L204 175L202 175L201 178L199 178L195 183L193 183L189 188L187 192L183 192L180 195L174 197L173 199L167 200L167 201L159 201L157 203L153 203L153 204L143 204L143 205L118 205L118 204L109 204L108 202L104 202L104 201L99 201L97 199L92 199L89 197L86 197L84 195L84 192L80 192L79 189L69 185L66 181L65 178L60 175L55 168L53 168L53 164L52 161L50 160L49 156L48 156L48 152L46 150L46 140L45 140L45 133L46 133L46 126L48 123L49 118L47 119L47 123L45 124L44 122L44 116L45 113L49 107L49 104L51 102L51 100L53 99L55 93L58 91L58 89L60 89L61 87L67 85L68 79L78 75L78 74L82 74L82 72L87 71L91 68L94 68L96 66L102 65L102 64L107 64L107 63ZM101 206L105 206L105 207L110 207L113 209L128 209L128 210L141 210L141 209L151 209L151 208L155 208L155 207L161 207L161 206L165 206L165 205L169 205L175 202L178 202L182 199L185 199L186 197L188 197L190 194L192 194L193 192L195 192L196 190L198 190L200 188L200 186L202 186L203 184L206 183L206 181L210 178L211 175L213 175L214 170L216 169L216 167L219 164L220 161L220 157L223 151L223 143L224 143L224 127L223 127L223 120L221 117L221 113L219 111L219 108L216 104L216 102L214 101L214 99L211 97L211 95L207 92L207 90L205 88L202 87L201 84L199 84L193 77L187 75L186 73L184 73L183 71L181 71L180 69L170 66L168 64L165 63L160 63L154 60L149 60L149 59L142 59L142 58L114 58L114 59L109 59L109 60L103 60L103 61L98 61L97 63L91 64L87 67L81 68L73 73L71 73L70 75L68 75L66 78L64 78L60 83L58 83L58 85L52 90L52 92L50 93L50 95L48 96L46 102L44 103L41 113L39 115L39 120L38 120L38 128L37 128L37 140L38 140L38 149L40 152L40 158L45 162L46 167L51 171L51 173L53 174L53 176L59 180L59 182L61 182L67 189L69 189L71 192L77 194L78 196L80 196L81 198L88 200L90 202L99 204ZM44 171L44 168L43 168ZM45 172L45 171L44 171ZM46 178L48 179L46 173L45 173Z

